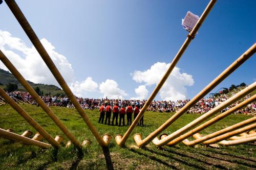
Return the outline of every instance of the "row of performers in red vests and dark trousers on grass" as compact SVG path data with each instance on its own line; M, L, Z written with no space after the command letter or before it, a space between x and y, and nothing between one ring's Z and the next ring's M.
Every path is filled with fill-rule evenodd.
M114 126L114 122L115 122L115 126L121 126L121 122L122 122L122 126L125 126L124 123L124 117L126 114L127 117L127 126L130 126L132 124L132 114L134 113L134 119L137 117L137 115L140 112L140 106L139 105L135 105L134 107L131 106L131 104L129 103L128 106L126 108L124 108L124 106L119 107L118 103L116 103L113 108L111 107L110 103L102 103L102 105L99 108L99 112L100 112L100 116L99 116L99 121L98 123L103 124L104 122L104 117L105 117L105 122L104 124L106 125L106 123L108 123L108 125L112 125ZM110 119L111 119L111 113L113 112L113 117L112 117L112 124L110 124ZM118 124L118 115L119 115L119 124ZM144 122L143 122L143 116L140 119L140 122L138 123L138 126L144 126Z

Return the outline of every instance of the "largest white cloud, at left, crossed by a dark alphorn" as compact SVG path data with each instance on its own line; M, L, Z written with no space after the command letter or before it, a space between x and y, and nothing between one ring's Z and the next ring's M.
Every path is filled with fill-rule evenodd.
M55 47L45 38L40 41L66 82L72 83L74 81L74 71L67 58L58 54L55 51ZM34 83L58 85L34 46L29 47L21 39L13 37L7 31L0 30L0 49L26 80ZM7 70L2 62L0 63L0 68Z

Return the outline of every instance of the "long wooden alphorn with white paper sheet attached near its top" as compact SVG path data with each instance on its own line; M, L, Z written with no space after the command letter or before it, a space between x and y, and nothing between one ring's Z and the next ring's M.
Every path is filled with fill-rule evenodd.
M181 58L181 56L183 55L183 53L185 52L187 46L189 45L189 43L191 42L191 40L193 40L193 38L195 37L196 33L198 32L199 28L201 27L203 21L205 20L206 16L209 14L210 10L212 9L212 7L214 7L214 4L216 3L217 0L211 0L210 3L208 4L208 6L206 7L206 9L204 10L202 16L200 17L200 19L198 20L196 26L194 27L194 29L187 35L187 38L185 40L185 42L183 43L183 45L181 46L180 50L178 51L178 53L176 54L174 60L172 61L172 63L170 64L169 68L167 69L167 71L165 72L163 78L160 80L160 82L157 84L157 86L155 87L154 91L152 92L152 94L150 95L150 98L148 98L148 100L146 101L146 103L144 104L144 106L142 107L140 113L137 115L137 117L135 118L134 122L132 123L132 125L129 127L129 129L126 131L126 133L124 134L124 136L121 138L121 140L116 140L117 144L122 146L126 140L128 139L128 137L131 135L132 131L134 130L134 128L136 127L136 125L138 124L139 120L141 119L141 117L143 116L144 112L146 111L146 109L148 108L148 106L150 106L151 102L155 99L157 93L159 92L159 90L161 89L161 87L163 86L164 82L167 80L167 78L169 77L170 73L172 72L172 70L174 69L175 65L178 63L179 59Z

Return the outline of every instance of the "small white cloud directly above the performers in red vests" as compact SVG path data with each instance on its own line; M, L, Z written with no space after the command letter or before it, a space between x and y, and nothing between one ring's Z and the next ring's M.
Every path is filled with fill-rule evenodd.
M102 82L99 85L99 90L103 93L103 98L107 96L108 99L124 99L123 97L127 95L124 90L118 87L117 82L110 79Z

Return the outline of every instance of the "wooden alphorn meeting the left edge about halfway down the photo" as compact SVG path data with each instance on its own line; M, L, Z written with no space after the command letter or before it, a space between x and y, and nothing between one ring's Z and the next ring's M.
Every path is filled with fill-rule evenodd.
M13 109L15 109L27 122L35 128L44 138L53 145L53 147L58 148L59 143L57 143L53 137L51 137L40 125L38 125L35 120L21 108L16 102L14 102L6 92L0 88L0 95L8 102Z

